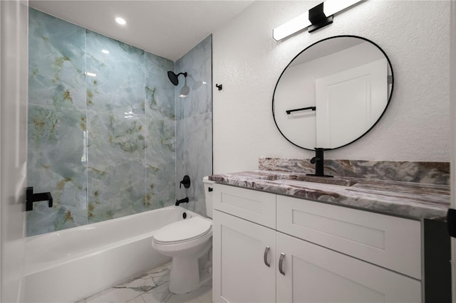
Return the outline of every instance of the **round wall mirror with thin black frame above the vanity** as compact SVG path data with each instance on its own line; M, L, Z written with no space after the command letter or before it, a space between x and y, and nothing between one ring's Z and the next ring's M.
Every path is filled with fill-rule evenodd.
M363 137L388 107L393 68L385 52L358 36L335 36L301 51L281 73L272 115L303 149L337 149Z

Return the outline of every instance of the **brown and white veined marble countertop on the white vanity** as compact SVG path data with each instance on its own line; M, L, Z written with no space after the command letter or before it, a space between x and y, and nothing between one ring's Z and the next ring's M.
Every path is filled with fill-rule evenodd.
M209 176L209 180L415 219L446 220L450 207L448 185L350 177L326 179L300 173L261 170L215 174Z

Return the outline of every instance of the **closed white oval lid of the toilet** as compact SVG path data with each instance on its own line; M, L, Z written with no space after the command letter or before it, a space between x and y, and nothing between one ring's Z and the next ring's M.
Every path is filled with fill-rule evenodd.
M209 220L195 216L160 228L153 238L157 243L178 243L202 237L209 233L211 227Z

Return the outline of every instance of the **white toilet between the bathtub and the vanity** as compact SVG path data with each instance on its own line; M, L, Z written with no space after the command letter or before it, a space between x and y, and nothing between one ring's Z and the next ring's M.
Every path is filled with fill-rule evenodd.
M162 255L172 257L170 292L184 294L199 288L212 277L212 257L200 272L199 258L212 248L212 188L214 181L203 178L206 215L192 216L166 225L155 232L152 247Z

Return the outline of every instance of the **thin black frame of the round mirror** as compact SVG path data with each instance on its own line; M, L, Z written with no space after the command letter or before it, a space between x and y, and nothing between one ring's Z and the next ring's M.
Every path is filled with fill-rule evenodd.
M340 35L340 36L331 36L331 37L328 37L328 38L324 38L320 41L317 41L315 43L312 43L310 46L304 48L304 50L301 50L301 52L299 52L297 55L294 56L293 59L291 59L290 63L288 63L288 65L286 65L286 67L284 68L284 70L282 70L280 76L279 76L279 79L277 80L277 83L276 83L276 86L274 87L274 92L273 92L273 95L272 95L272 117L274 118L274 123L276 124L276 127L277 129L279 129L279 132L280 134L288 141L290 142L291 144L293 144L294 146L296 147L299 147L301 149L306 149L306 150L309 150L309 151L314 151L315 149L308 149L306 147L301 147L299 146L298 144L294 143L294 142L291 142L290 139L288 139L285 134L280 130L279 128L279 125L277 125L277 122L276 122L276 116L274 115L274 96L276 94L276 89L277 89L277 85L279 85L279 81L282 77L282 75L284 75L285 73L285 70L286 68L289 67L289 65L291 65L291 63L294 61L294 59L296 59L297 57L299 57L299 55L301 55L301 53L304 53L307 49L311 48L312 46L318 44L318 43L321 43L323 41L326 41L326 40L330 40L330 39L333 39L333 38L359 38L361 40L364 40L364 41L367 41L371 44L373 44L374 46L376 46L382 53L383 55L385 56L386 60L388 61L388 65L390 67L390 70L391 70L391 90L390 90L390 95L388 96L388 102L386 103L386 106L385 106L385 109L383 110L383 112L381 113L381 115L378 117L377 121L375 121L375 123L366 131L364 132L363 134L361 134L360 137L354 139L353 141L351 142L348 142L347 144L343 144L341 145L340 147L335 147L335 148L332 148L332 149L326 149L325 150L333 150L333 149L340 149L341 147L346 147L348 144L352 144L353 142L356 142L358 141L359 139L361 139L362 137L364 137L368 132L371 131L371 129L373 129L373 127L375 127L375 125L378 123L378 121L380 121L380 119L383 117L383 115L385 114L386 112L386 109L388 108L388 105L390 105L390 102L391 102L391 97L393 96L393 90L394 90L394 73L393 73L393 65L391 64L391 61L390 61L390 58L388 58L388 55L386 55L385 51L380 48L380 46L378 46L377 43L369 40L368 38L364 38L364 37L360 37L360 36L353 36L353 35ZM304 132L304 131L303 131Z

